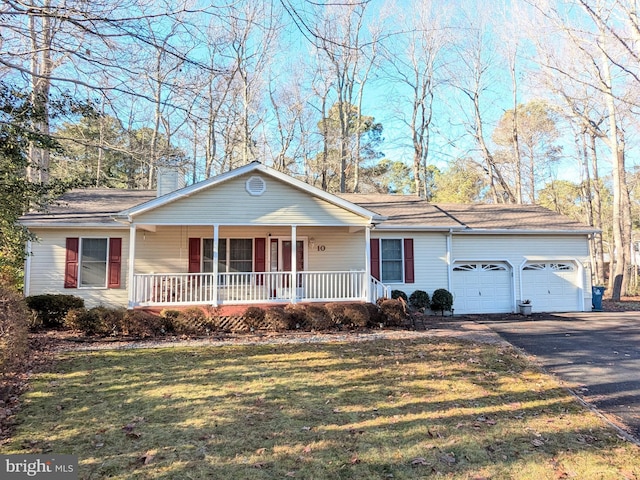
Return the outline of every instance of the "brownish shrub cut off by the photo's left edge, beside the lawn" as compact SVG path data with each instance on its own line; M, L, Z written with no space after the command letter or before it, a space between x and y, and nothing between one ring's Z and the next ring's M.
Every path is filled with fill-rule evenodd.
M28 323L29 309L22 296L0 287L0 374L9 373L27 358Z

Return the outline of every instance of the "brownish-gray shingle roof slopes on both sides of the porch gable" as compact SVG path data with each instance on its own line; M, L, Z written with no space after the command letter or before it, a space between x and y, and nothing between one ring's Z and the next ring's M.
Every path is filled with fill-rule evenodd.
M341 194L344 200L387 219L379 228L584 233L592 227L537 205L432 204L413 196ZM27 226L118 225L113 216L156 198L155 190L72 190L47 212L21 218Z

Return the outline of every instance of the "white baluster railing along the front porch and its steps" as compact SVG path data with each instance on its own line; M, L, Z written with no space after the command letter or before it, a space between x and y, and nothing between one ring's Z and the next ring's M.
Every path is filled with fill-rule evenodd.
M135 274L135 306L233 305L305 301L376 301L388 287L365 271ZM367 281L369 294L367 298Z

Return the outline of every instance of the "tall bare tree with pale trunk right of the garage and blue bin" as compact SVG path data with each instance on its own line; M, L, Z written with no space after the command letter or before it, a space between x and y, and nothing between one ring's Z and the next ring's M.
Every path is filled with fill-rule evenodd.
M579 16L576 11L570 14L557 5L539 5L541 18L547 20L547 28L565 39L573 55L559 58L557 48L538 45L541 65L550 74L561 78L564 83L582 85L600 102L606 112L603 123L594 123L585 119L585 127L594 139L602 141L610 152L613 184L613 214L611 230L613 250L611 251L610 289L612 298L619 300L626 294L631 264L631 209L625 167L624 112L632 102L626 94L629 84L621 80L617 73L634 77L619 59L627 53L631 61L636 61L633 52L624 48L612 29L606 23L615 13L620 2L606 7L600 2L576 0L576 4L586 15ZM568 62L567 58L572 61ZM578 66L575 66L576 63ZM615 70L614 70L615 69ZM617 72L617 73L616 73ZM637 86L636 86L637 88ZM576 98L567 98L577 102ZM576 109L573 107L574 110ZM579 107L578 107L579 108ZM593 148L595 152L595 147Z

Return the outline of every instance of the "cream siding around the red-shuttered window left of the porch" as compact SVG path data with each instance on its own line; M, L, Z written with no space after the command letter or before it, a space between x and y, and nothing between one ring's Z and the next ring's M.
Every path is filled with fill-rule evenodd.
M85 300L87 307L97 305L126 307L128 303L127 280L129 256L129 230L84 229L67 230L34 229L38 240L31 245L31 272L29 295L45 293L76 295ZM67 237L120 237L122 238L122 265L120 288L64 288L64 271Z

